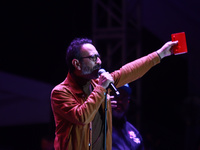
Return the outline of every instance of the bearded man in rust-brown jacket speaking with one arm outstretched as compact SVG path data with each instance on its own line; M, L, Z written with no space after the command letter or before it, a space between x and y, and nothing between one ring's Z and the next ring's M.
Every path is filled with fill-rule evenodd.
M56 150L104 149L104 100L112 82L116 87L143 76L163 57L171 55L176 42L167 42L162 48L145 57L122 66L112 73L98 77L101 59L92 41L77 38L67 49L69 72L66 79L51 93L51 105L56 131ZM106 149L112 149L112 110L107 96Z

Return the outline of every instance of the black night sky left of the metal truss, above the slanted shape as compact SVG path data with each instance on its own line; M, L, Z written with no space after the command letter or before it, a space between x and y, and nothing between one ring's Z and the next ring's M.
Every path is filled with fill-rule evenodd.
M66 75L69 42L92 35L90 1L9 1L1 11L1 70L50 84Z

